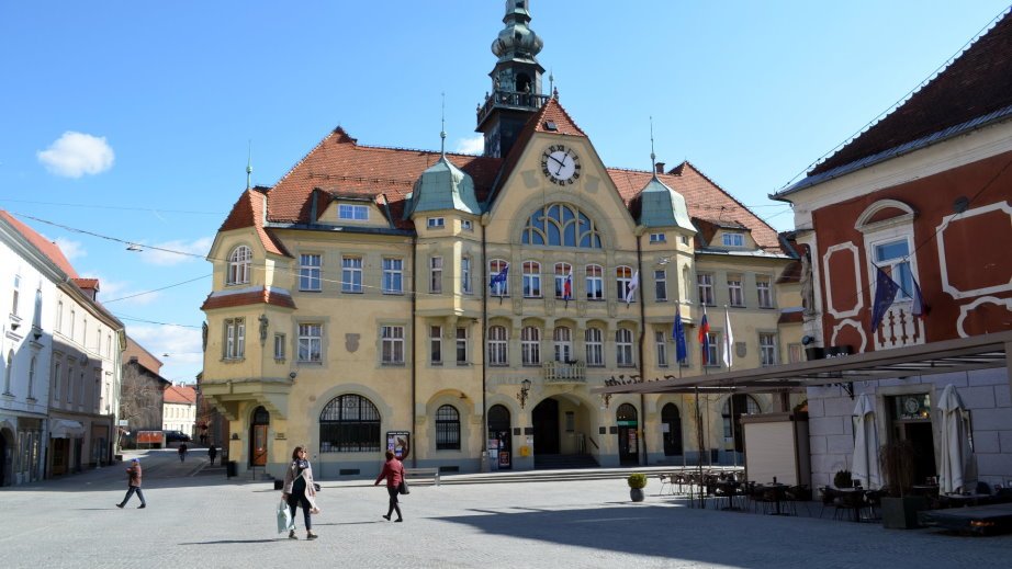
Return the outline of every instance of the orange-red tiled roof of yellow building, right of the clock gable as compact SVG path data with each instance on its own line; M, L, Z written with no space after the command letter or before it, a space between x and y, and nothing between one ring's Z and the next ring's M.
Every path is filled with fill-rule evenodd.
M653 172L609 168L608 175L611 177L618 193L628 206L650 182ZM780 248L773 227L760 219L688 161L682 162L666 174L659 173L657 179L685 197L689 217L712 220L721 226L738 224L740 227L750 229L752 238L763 249Z

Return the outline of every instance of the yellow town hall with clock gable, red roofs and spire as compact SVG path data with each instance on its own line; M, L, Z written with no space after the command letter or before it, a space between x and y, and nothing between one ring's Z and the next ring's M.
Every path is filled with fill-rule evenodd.
M337 128L236 202L209 254L201 396L240 469L278 475L300 444L327 478L374 473L387 447L445 471L730 464L738 417L788 405L592 392L787 361L796 259L688 162L606 167L542 93L529 21L507 2L483 156Z

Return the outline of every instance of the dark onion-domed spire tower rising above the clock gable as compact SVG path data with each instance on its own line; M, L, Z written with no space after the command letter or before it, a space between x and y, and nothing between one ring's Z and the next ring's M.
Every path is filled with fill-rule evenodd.
M544 68L536 56L543 43L528 27L530 0L506 0L506 26L492 43L492 53L498 57L488 76L492 91L477 105L477 128L485 135L485 156L502 158L509 153L520 129L548 101L541 94L541 75Z

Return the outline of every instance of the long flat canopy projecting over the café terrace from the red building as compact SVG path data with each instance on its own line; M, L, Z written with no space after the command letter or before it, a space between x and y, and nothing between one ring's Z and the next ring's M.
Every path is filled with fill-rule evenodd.
M740 372L696 375L659 382L605 385L597 394L684 394L724 391L796 391L806 387L1007 367L1012 332L880 350L842 357Z

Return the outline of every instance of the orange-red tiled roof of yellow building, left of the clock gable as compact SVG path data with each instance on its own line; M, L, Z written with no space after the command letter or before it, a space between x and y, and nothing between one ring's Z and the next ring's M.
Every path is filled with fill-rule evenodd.
M361 146L340 127L310 150L268 193L268 219L280 223L307 223L314 189L334 196L368 194L384 209L381 194L390 201L394 225L412 229L403 220L405 197L415 181L439 160L440 153L404 148ZM474 180L474 191L484 201L498 172L497 158L447 153L447 158Z

